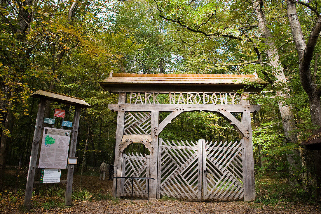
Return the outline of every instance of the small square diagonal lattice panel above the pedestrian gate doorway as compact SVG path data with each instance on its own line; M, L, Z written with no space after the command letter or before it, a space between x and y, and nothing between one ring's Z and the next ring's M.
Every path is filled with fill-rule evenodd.
M125 112L124 135L150 135L151 112Z

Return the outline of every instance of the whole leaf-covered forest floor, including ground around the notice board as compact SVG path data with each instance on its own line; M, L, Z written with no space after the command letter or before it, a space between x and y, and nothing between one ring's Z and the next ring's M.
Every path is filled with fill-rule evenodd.
M147 199L134 199L131 202L130 199L111 197L112 181L100 181L97 176L84 176L82 192L79 191L79 181L80 176L75 175L73 199L76 200L73 200L71 207L63 204L63 184L47 187L43 186L47 184L37 184L39 186L35 187L32 209L23 208L24 191L20 190L20 193L4 192L0 195L0 213L321 213L320 205L285 201L264 204L242 200L193 201L166 198L150 202Z

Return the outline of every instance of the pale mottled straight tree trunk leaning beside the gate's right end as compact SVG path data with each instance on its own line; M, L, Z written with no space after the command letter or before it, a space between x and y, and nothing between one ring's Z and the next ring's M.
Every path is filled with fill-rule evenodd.
M267 27L268 23L263 11L263 1L253 0L252 5L257 16L258 27L262 33L262 38L265 45L267 46L266 54L269 59L269 64L273 68L272 75L276 79L273 83L275 86L278 86L277 88L281 88L281 90L275 91L275 94L276 96L282 97L284 99L289 99L289 89L286 86L287 81L284 75L283 66L280 61L277 48L272 40L273 35L270 29ZM291 105L286 105L282 100L278 101L278 105L282 117L282 124L285 135L284 144L296 144L298 142L298 135L294 122L293 108ZM287 160L290 163L289 175L290 181L294 181L294 183L297 183L297 181L295 180L297 180L298 178L293 177L292 175L294 175L295 172L300 169L299 151L293 150L292 153L293 154L287 154Z

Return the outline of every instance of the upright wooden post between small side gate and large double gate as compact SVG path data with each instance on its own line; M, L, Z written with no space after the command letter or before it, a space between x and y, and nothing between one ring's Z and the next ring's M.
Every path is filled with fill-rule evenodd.
M152 126L151 129L154 130L159 123L159 112L152 111ZM155 180L150 180L149 183L149 197L151 199L156 199L157 197L157 168L158 168L158 136L152 134L152 146L154 146L154 152L150 156L150 176Z

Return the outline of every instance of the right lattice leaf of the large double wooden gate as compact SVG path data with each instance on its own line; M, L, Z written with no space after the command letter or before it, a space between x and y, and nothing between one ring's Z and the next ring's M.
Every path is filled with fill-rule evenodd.
M204 199L243 198L242 141L203 145Z

